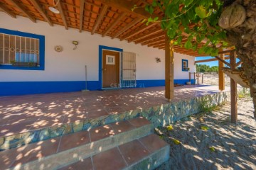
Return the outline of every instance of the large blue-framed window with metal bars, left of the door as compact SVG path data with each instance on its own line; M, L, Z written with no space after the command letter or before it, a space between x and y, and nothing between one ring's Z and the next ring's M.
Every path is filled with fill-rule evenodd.
M0 29L0 69L44 69L44 36Z

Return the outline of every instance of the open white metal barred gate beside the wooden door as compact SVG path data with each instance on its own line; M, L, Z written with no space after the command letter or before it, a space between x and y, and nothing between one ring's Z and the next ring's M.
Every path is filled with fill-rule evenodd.
M136 87L136 54L122 52L122 87Z

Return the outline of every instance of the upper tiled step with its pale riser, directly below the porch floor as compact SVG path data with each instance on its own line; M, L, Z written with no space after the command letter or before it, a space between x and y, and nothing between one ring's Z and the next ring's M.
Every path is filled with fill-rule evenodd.
M57 169L151 134L151 123L134 118L0 152L0 169Z

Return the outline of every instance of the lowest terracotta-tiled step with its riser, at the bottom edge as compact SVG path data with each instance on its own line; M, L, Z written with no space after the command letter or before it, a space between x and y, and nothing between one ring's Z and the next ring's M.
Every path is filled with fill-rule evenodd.
M92 157L81 158L80 161L59 170L68 169L155 169L169 159L170 146L151 134L138 140L127 142Z

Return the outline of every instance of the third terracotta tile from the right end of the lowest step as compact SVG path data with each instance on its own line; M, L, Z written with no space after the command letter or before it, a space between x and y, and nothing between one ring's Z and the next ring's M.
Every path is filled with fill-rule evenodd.
M95 170L119 170L126 166L117 147L92 157Z

